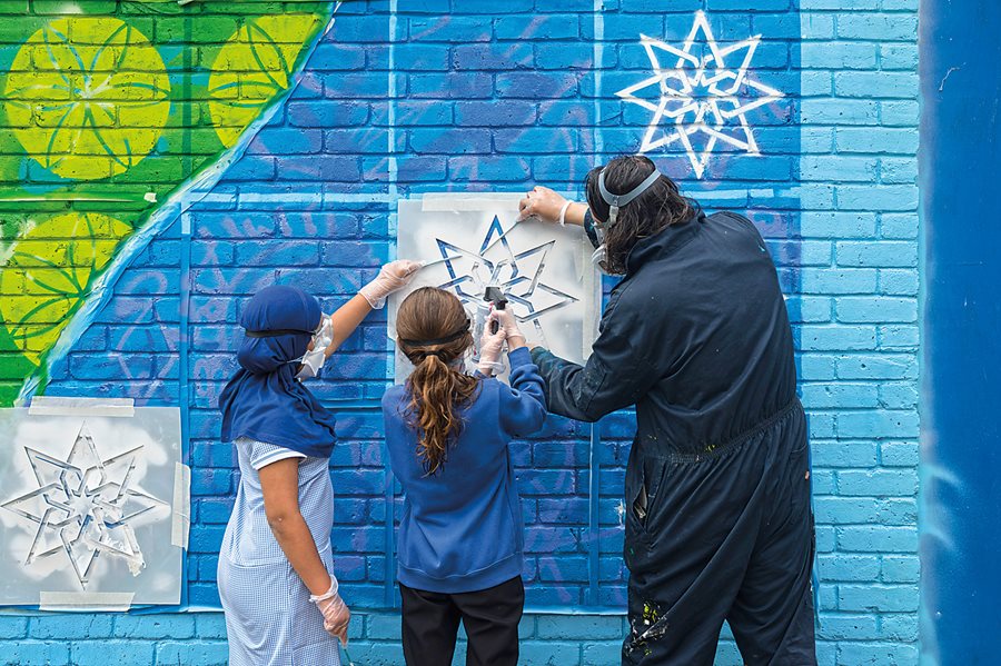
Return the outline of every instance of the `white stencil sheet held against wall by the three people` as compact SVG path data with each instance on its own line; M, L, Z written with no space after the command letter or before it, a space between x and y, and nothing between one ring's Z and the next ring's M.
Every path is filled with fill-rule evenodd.
M465 305L478 345L490 305L484 291L494 285L504 291L529 342L575 362L586 360L601 310L594 249L579 227L518 221L519 197L425 195L399 202L397 256L428 265L390 298L392 339L403 299L420 287L440 287ZM396 380L403 381L410 369L397 352Z

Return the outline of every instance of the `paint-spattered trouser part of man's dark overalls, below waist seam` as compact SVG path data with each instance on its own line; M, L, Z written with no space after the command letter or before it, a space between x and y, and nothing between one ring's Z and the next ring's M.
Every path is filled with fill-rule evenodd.
M706 454L644 456L641 448L626 473L623 664L710 666L724 620L749 666L816 664L799 401ZM644 494L645 517L628 501Z

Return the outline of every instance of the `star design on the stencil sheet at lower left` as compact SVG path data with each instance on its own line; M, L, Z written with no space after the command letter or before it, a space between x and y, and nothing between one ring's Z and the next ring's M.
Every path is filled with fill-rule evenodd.
M132 575L146 566L130 524L166 501L133 486L142 446L101 459L85 421L66 460L24 447L38 489L3 507L38 526L26 566L66 553L85 589L101 553L121 557Z

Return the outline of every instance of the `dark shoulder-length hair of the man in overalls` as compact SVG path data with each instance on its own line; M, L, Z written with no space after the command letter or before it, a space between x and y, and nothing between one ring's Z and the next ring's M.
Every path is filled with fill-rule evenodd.
M605 188L613 195L625 195L643 182L656 166L643 156L617 157L605 167ZM587 206L596 222L608 220L609 206L598 189L602 167L587 173L585 191ZM693 205L678 192L677 185L666 176L661 176L642 195L618 209L614 225L605 227L605 270L613 275L626 274L626 258L636 241L653 236L671 225L688 221L694 213Z

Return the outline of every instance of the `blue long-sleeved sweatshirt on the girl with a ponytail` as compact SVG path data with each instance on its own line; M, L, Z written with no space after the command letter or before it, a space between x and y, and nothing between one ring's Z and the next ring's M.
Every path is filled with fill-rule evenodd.
M416 454L406 387L383 397L389 465L406 494L397 576L407 587L458 594L522 574L524 524L507 445L542 428L546 401L528 349L515 349L508 359L511 386L480 379L460 410L463 430L434 475Z

